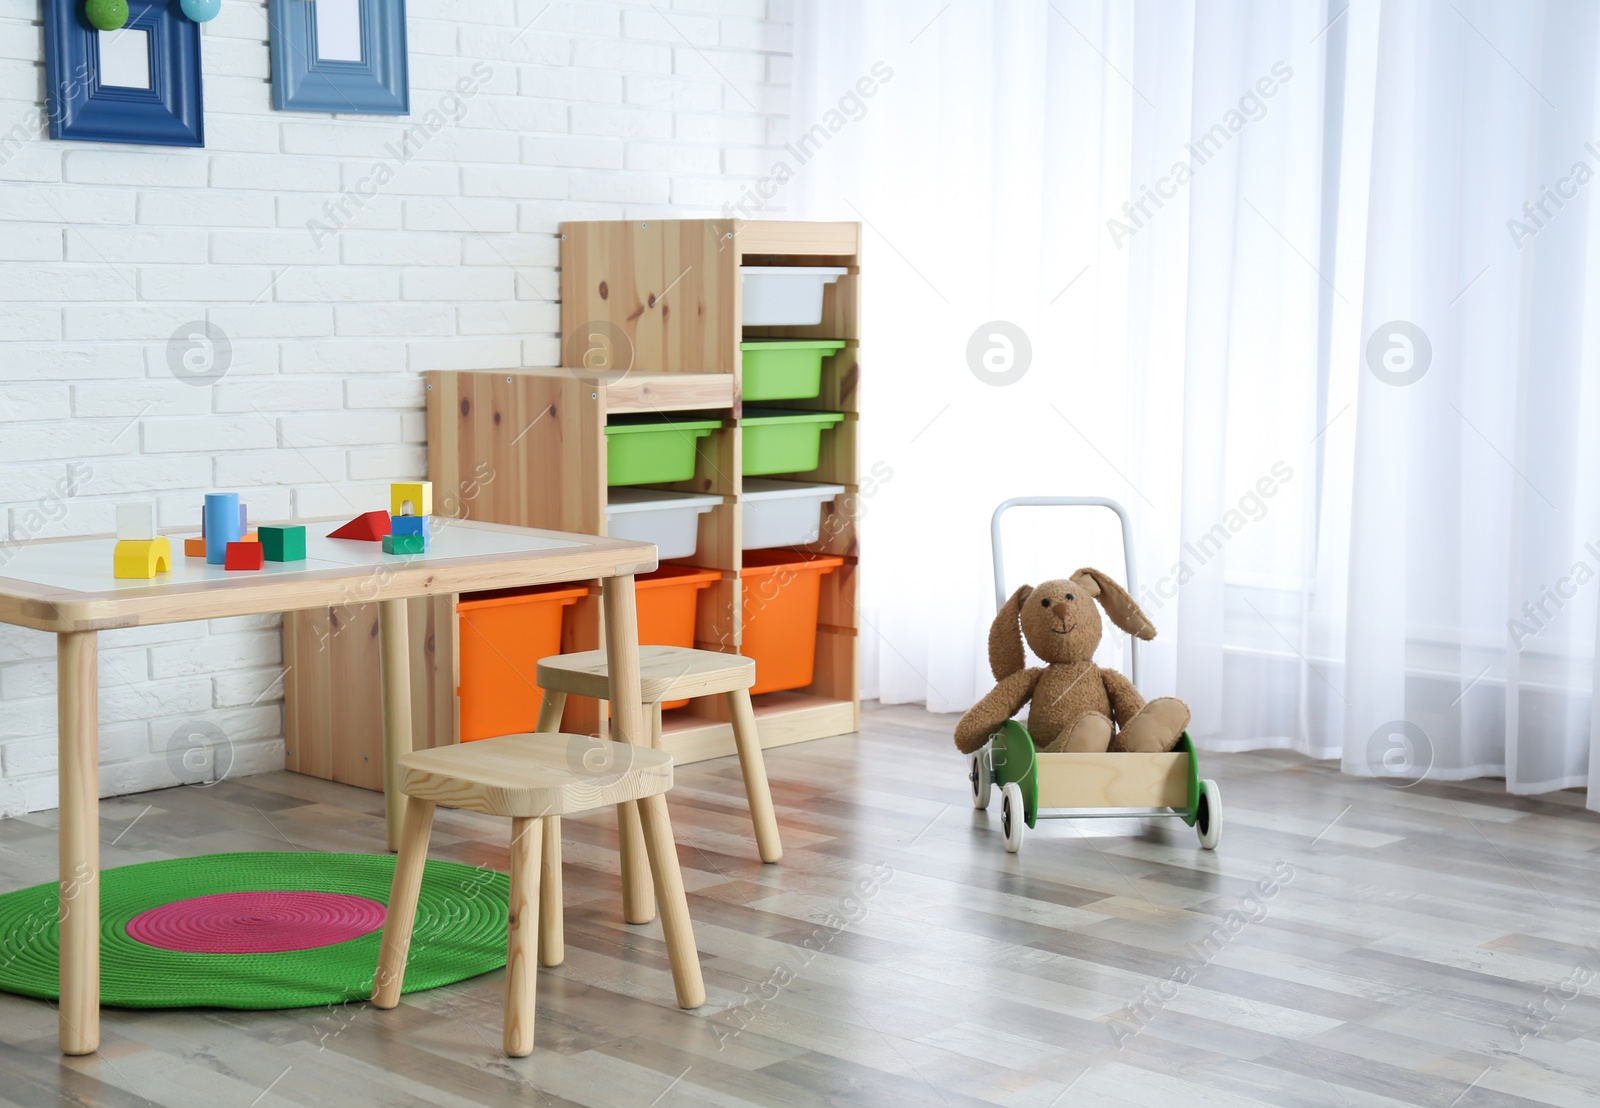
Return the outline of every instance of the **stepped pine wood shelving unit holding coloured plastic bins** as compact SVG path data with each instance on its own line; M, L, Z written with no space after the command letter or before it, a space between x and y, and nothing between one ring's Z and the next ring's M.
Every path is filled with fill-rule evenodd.
M741 488L741 354L746 338L832 338L845 347L822 367L821 395L811 400L763 402L762 407L845 413L822 437L822 463L806 474L778 474L846 487L824 520L821 540L806 549L838 554L845 565L822 578L816 676L810 687L755 698L762 745L781 746L854 732L861 717L858 677L858 320L859 226L739 219L568 223L562 226L562 333L565 360L589 368L461 370L427 375L429 477L437 514L496 524L606 533L605 426L616 415L696 413L720 428L699 440L694 477L661 485L710 493L722 503L699 519L694 565L722 572L701 594L696 645L734 653L742 632L739 568L742 565ZM822 322L814 327L742 328L741 266L843 266L827 287ZM357 605L342 615L355 629L366 613ZM315 624L325 613L285 620L285 650L320 648L349 653L341 672L362 684L371 668L376 697L376 640L360 634L328 637ZM418 615L413 615L416 626ZM429 735L416 745L456 741L456 621L446 610L427 613L430 629L424 664L413 674L427 680L414 692L414 719ZM318 634L320 632L320 634ZM341 642L342 640L342 642ZM562 648L600 644L595 596L571 610ZM366 655L371 655L368 658ZM360 751L381 749L376 711L328 706L333 692L298 682L290 671L290 761L301 772L368 785ZM358 698L357 698L358 700ZM302 703L309 701L309 703ZM355 751L341 764L318 754L330 725L346 733ZM419 729L421 729L419 722ZM597 732L594 701L573 698L568 730ZM448 730L448 735L445 733ZM664 741L680 764L733 753L733 730L720 698L693 700L669 711ZM363 780L350 772L362 770ZM371 788L371 785L368 785Z

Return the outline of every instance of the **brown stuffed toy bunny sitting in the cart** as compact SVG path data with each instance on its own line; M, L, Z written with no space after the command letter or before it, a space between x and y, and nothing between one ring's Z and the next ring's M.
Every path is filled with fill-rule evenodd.
M1174 697L1146 703L1133 682L1094 664L1099 600L1128 634L1154 639L1155 626L1120 584L1082 568L1064 581L1024 584L989 628L989 668L998 682L955 727L955 746L971 754L1005 721L1029 706L1027 729L1042 751L1162 753L1178 745L1189 706ZM1048 664L1024 669L1022 637Z

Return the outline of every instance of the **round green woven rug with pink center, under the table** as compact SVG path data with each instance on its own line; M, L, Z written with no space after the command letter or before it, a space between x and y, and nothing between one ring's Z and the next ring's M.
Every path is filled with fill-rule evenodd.
M101 1002L291 1009L365 1001L394 866L392 855L370 853L213 853L106 869ZM429 861L405 991L502 967L509 893L502 873ZM0 990L56 999L59 948L56 884L0 895Z

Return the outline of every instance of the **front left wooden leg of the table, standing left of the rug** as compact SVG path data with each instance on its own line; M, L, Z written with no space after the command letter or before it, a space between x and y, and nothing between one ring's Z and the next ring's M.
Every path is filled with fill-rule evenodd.
M99 1049L99 644L56 636L61 762L61 1052Z

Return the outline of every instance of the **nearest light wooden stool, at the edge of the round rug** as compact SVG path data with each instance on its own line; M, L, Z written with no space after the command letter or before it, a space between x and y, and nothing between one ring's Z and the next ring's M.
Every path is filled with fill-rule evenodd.
M373 1004L392 1009L400 1001L416 898L427 860L434 807L466 809L510 817L510 927L506 935L506 1054L533 1052L534 948L560 953L562 871L558 817L616 804L635 812L643 847L661 901L661 930L672 962L678 1007L706 1002L699 954L683 895L677 845L667 802L672 757L661 751L610 743L587 735L506 735L459 746L405 754L400 789L406 796L400 857L395 858L389 917L384 924ZM546 826L549 821L549 826ZM550 860L555 844L555 866ZM546 922L541 933L541 917ZM554 927L550 925L554 922ZM541 961L549 962L541 957ZM560 957L555 957L560 962Z

